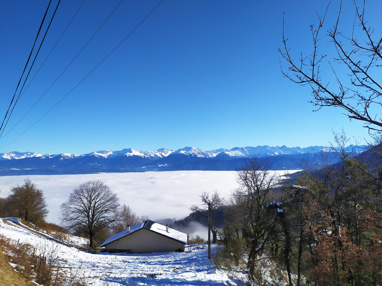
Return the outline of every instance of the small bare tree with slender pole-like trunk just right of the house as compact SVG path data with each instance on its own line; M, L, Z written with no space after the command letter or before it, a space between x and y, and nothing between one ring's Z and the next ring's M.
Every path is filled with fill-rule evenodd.
M212 195L209 193L203 192L200 195L201 203L203 207L198 207L193 205L190 210L191 212L196 212L205 216L205 213L208 214L208 259L211 259L211 229L212 229L212 217L211 212L219 209L224 202L224 199L220 198L216 190L213 191ZM216 237L216 230L214 231L214 237Z

